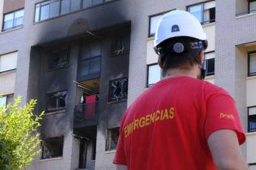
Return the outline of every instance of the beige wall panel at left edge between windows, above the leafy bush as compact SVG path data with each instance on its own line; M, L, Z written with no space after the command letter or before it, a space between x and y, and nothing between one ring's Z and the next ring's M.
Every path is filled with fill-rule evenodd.
M15 76L15 72L0 75L0 94L14 94Z

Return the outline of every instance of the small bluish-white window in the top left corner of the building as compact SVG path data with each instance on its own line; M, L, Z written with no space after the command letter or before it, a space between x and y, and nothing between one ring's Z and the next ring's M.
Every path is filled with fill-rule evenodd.
M2 30L9 30L23 25L24 9L15 10L14 12L4 14L4 23Z

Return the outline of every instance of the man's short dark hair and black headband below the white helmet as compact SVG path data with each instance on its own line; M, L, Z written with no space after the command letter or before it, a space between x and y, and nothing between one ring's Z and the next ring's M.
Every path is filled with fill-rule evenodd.
M198 42L199 39L190 38L190 37L179 37L166 39L161 42L158 47L161 47L163 54L159 55L158 60L163 66L163 76L166 73L166 70L170 68L180 68L180 67L192 67L195 64L200 64L199 56L200 52L203 51L203 47L197 47L191 49L192 42ZM176 42L181 42L184 45L184 51L181 53L176 53L173 51L173 46Z

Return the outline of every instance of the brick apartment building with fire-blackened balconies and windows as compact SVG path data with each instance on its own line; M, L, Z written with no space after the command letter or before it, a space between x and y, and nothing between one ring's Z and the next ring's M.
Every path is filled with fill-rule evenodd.
M187 10L207 33L207 78L236 100L256 169L256 1L0 1L0 103L45 110L27 169L114 169L122 113L161 79L152 49L161 15Z

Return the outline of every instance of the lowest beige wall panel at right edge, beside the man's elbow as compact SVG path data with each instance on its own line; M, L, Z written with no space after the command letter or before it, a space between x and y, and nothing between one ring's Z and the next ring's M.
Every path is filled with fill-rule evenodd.
M256 132L247 134L247 163L256 163Z

